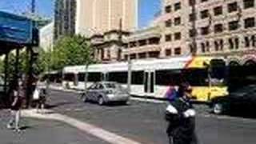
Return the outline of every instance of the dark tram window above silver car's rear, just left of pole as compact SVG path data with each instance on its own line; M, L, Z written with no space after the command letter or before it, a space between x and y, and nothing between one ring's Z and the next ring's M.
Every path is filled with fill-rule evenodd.
M109 81L118 83L127 83L128 74L127 72L112 72L108 74Z

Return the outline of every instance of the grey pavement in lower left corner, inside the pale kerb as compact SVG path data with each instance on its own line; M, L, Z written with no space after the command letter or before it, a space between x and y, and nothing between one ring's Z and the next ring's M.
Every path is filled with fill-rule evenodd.
M107 144L99 138L86 134L64 122L38 120L22 117L20 133L6 129L8 111L0 110L1 144Z

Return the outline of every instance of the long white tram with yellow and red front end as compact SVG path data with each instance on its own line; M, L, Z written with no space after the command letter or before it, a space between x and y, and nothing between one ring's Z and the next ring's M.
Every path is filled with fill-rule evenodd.
M165 99L170 86L186 81L192 86L195 101L210 102L211 98L228 93L225 69L226 62L222 58L192 56L66 66L62 70L62 86L85 90L92 82L118 82L125 87L129 83L133 96Z

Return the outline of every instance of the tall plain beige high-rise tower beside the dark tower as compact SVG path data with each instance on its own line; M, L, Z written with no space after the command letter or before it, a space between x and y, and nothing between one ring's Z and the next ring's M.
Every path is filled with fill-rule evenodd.
M92 36L110 30L136 30L138 0L77 0L76 34Z

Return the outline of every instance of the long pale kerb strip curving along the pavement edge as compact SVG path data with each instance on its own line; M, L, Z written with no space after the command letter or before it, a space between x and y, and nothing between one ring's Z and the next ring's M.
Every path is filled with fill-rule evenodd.
M114 134L110 131L103 130L97 126L90 125L89 123L82 122L62 114L37 114L34 110L22 110L22 116L30 118L53 119L66 122L70 126L74 126L87 134L92 134L97 138L101 138L102 140L113 144L141 144L140 142L135 142L130 138L124 138L118 134Z

